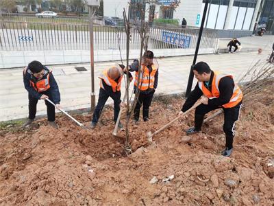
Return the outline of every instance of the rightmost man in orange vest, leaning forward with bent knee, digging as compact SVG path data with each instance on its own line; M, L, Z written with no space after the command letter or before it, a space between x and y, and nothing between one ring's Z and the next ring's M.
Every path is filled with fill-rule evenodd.
M186 134L194 134L201 131L203 117L206 113L217 108L223 108L225 122L223 131L225 132L225 150L223 156L230 156L233 148L235 135L235 122L240 115L242 106L242 91L234 83L232 75L225 75L217 71L212 71L206 62L198 62L193 69L193 73L198 82L195 89L190 93L182 111L186 112L201 98L201 103L195 110L195 126L186 130Z

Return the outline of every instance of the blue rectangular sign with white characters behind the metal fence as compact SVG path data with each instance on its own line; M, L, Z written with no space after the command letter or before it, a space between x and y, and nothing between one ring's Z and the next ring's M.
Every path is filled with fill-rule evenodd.
M162 32L162 41L171 45L178 45L181 48L189 48L190 36L176 34L173 32Z

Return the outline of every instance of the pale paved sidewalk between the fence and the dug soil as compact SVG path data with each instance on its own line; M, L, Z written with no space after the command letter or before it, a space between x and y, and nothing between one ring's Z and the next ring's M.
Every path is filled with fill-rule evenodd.
M235 80L246 73L257 60L262 63L270 53L270 49L264 50L261 55L257 52L238 52L236 54L200 55L197 62L206 61L213 70L232 73ZM186 91L188 74L193 56L182 56L158 59L160 65L159 83L156 94L182 93ZM99 73L116 62L100 62L95 64L95 92L99 93ZM88 71L76 71L79 65L58 65L49 67L58 82L61 93L61 104L65 110L90 107L90 65L83 64ZM28 100L27 91L23 86L23 69L0 70L0 121L27 117ZM194 80L193 86L195 86ZM122 86L122 95L125 87ZM110 99L108 102L112 102ZM46 106L43 101L38 102L38 115L46 114Z

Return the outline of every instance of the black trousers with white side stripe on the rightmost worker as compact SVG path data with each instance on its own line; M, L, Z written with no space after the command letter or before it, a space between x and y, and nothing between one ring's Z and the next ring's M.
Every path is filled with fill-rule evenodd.
M242 107L242 103L240 102L238 105L232 108L223 108L224 111L224 120L223 123L223 131L225 132L225 146L228 148L233 148L233 138L235 135L235 122L238 120L240 115L240 108ZM206 113L213 111L219 107L208 106L206 104L201 104L197 106L195 110L195 122L197 122L196 118L205 116ZM196 124L196 123L195 123Z

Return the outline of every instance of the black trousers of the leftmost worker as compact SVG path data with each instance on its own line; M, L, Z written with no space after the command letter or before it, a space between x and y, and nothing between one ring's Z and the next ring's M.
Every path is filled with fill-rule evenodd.
M50 91L43 91L40 94L47 95L49 97L49 100L53 101ZM31 95L29 95L29 119L34 119L36 116L37 102L38 102L38 100L36 98L33 98ZM54 122L55 121L55 106L53 106L47 100L45 100L45 104L47 106L47 120L49 120L50 122Z

